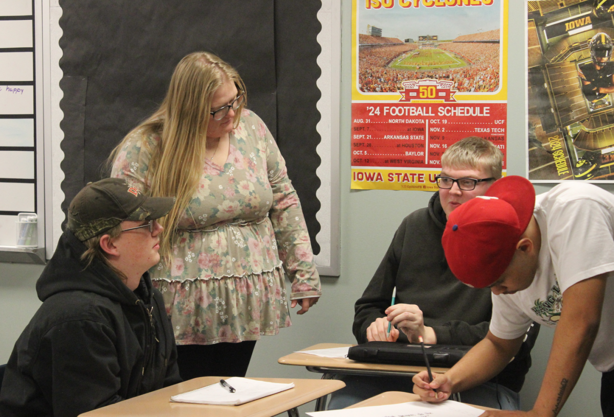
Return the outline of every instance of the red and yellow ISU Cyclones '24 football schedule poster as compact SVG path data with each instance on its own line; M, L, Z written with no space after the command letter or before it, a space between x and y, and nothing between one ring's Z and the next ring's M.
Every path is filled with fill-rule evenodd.
M507 0L353 6L352 188L435 191L468 136L506 154Z

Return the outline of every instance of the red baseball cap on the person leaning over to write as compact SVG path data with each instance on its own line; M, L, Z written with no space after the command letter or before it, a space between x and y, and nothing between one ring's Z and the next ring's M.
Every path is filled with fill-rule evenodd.
M475 288L498 280L510 265L534 207L533 185L510 175L450 213L441 244L456 278Z

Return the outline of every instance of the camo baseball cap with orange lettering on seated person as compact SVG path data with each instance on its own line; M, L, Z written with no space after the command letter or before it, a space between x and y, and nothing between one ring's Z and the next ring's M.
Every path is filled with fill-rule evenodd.
M120 178L88 183L68 207L68 228L81 242L124 220L155 220L173 207L175 197L148 197Z

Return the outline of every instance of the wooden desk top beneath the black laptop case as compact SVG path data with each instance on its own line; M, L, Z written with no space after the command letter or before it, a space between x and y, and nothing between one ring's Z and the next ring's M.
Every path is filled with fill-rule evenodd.
M341 348L343 346L354 346L344 343L318 343L317 345L309 346L308 348L302 350L314 350L314 349L330 349L330 348ZM341 358L322 358L321 356L315 356L313 354L308 353L290 353L282 358L279 358L278 362L282 365L300 365L306 367L314 367L318 372L320 371L317 368L332 368L338 370L362 370L365 372L398 372L398 373L410 373L412 375L426 370L426 367L423 366L410 366L410 365L389 365L389 364L370 364L367 362L356 362L351 359L341 359ZM448 370L448 368L436 368L431 367L433 372L443 373Z

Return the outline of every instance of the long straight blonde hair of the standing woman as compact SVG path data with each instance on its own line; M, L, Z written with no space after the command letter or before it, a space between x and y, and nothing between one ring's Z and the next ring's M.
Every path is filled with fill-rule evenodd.
M177 197L164 218L158 219L166 229L160 239L160 254L168 263L179 219L185 213L203 174L207 128L211 101L216 90L227 80L244 94L243 104L235 112L233 126L239 124L247 102L245 85L238 72L209 52L193 52L175 67L168 93L160 108L128 133L111 152L113 163L130 136L139 129L160 135L149 164L149 193L153 197Z

